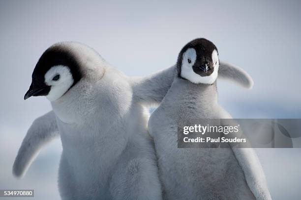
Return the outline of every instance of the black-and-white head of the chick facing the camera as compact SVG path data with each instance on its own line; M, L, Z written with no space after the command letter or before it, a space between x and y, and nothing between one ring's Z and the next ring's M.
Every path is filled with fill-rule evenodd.
M179 53L178 76L193 83L214 83L218 67L217 48L205 38L192 40Z

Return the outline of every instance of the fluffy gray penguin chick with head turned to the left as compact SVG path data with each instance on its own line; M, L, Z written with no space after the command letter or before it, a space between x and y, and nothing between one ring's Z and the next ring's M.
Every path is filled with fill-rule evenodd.
M131 84L82 44L59 43L40 57L24 99L45 96L51 102L46 116L56 123L49 132L57 125L63 148L61 199L161 199L148 116Z

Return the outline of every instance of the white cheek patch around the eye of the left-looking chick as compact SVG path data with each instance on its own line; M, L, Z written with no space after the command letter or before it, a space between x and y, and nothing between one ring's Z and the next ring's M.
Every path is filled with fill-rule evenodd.
M74 80L70 69L63 65L57 65L45 74L45 84L51 86L46 98L50 101L59 99L73 84Z

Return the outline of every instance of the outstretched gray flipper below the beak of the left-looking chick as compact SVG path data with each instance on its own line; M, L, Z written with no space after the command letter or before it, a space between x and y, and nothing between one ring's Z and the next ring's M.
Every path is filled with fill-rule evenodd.
M59 136L56 116L53 111L35 119L30 126L13 165L13 174L21 177L30 166L39 150Z

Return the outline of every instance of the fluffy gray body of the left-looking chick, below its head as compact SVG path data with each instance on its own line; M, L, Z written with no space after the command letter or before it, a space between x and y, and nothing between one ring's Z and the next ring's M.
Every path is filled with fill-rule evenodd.
M63 147L59 188L66 199L70 196L73 199L161 198L151 140L143 127L147 117L131 121L138 119L144 108L136 105L132 109L129 84L124 79L120 81L124 77L116 74L114 69L106 68L101 83L79 84L81 88L84 86L83 92L76 88L72 90L74 94L70 91L63 100L52 102L54 112L58 111ZM72 103L74 98L69 95L76 97L77 102ZM66 114L64 108L70 104L74 107ZM72 116L80 117L76 125L69 121Z

